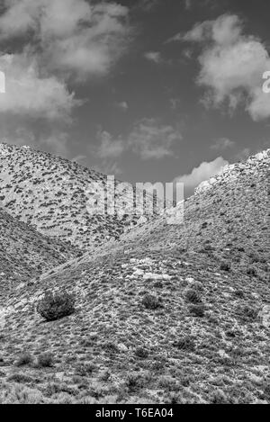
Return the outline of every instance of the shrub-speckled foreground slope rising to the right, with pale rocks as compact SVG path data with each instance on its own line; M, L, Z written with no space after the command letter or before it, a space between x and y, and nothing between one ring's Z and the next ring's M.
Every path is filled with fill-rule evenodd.
M226 167L183 224L149 221L2 299L0 402L270 403L269 164ZM44 322L45 290L76 312ZM53 364L16 366L23 351Z

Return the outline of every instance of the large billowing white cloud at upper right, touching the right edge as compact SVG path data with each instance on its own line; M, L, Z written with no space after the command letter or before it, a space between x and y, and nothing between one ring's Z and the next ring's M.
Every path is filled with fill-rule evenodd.
M244 34L237 15L197 23L182 40L202 42L197 83L210 89L208 98L214 106L228 101L233 109L243 103L254 121L270 117L270 96L262 90L270 58L261 40Z

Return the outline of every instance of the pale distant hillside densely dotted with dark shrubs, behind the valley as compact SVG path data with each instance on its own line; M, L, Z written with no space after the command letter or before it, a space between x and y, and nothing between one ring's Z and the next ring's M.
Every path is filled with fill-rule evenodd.
M137 224L139 216L91 215L87 203L94 183L105 186L107 176L30 147L0 144L0 202L5 211L31 224L40 233L64 240L85 252ZM115 181L115 184L118 184ZM116 194L133 205L133 195Z

